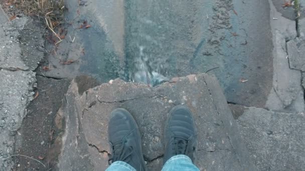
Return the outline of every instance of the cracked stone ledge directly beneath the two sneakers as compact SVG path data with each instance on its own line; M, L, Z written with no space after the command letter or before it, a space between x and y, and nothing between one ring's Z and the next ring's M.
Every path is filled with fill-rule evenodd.
M154 88L115 79L83 93L79 93L79 85L72 80L58 112L66 119L59 170L103 170L108 166L108 116L116 107L124 107L134 116L147 166L160 170L166 116L177 104L188 105L194 113L201 170L255 170L213 76L175 77Z

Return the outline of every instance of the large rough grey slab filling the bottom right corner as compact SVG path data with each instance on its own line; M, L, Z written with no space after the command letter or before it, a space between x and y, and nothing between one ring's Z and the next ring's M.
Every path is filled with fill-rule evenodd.
M258 170L303 170L305 115L244 107L242 138Z

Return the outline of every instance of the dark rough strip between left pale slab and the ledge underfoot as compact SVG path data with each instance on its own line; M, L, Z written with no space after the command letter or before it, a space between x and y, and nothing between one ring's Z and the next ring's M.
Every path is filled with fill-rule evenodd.
M55 122L64 123L59 123L59 118L55 116L62 105L62 99L70 81L37 76L37 83L36 98L28 105L28 114L15 137L14 153L38 159L46 167L33 159L15 156L16 170L48 170L53 167L53 161L58 156L54 145L57 144L56 137L60 134L60 130L54 125ZM51 148L53 150L50 150Z

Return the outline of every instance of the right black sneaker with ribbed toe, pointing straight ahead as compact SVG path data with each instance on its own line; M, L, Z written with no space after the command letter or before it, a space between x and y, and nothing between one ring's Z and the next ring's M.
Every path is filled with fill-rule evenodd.
M195 163L197 129L193 114L185 105L177 105L170 111L165 124L165 143L164 163L178 154L189 156Z

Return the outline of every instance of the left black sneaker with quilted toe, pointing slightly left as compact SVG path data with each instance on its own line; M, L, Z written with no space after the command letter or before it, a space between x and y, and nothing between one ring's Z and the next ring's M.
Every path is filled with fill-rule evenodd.
M111 112L108 124L108 139L111 157L108 163L124 161L136 170L145 170L141 136L132 115L123 108Z

